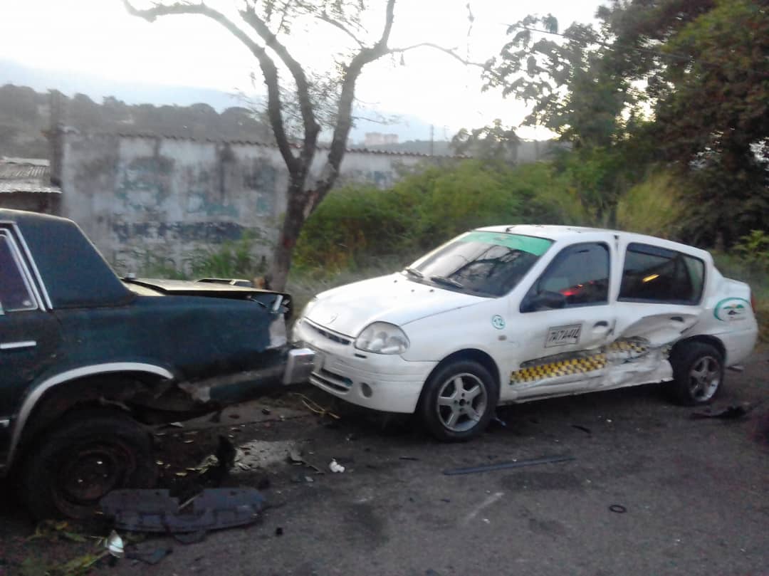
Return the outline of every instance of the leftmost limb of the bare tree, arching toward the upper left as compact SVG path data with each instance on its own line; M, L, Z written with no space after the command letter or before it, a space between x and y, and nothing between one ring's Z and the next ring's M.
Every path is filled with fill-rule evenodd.
M275 62L272 62L272 58L267 54L265 48L262 48L254 40L248 36L245 32L235 25L221 12L213 8L209 8L205 4L186 4L176 2L171 5L155 4L152 8L140 10L131 5L128 0L123 0L123 5L128 11L128 14L137 16L138 18L144 18L147 22L155 22L158 16L167 16L173 14L199 14L211 18L218 22L235 38L238 38L250 51L251 54L259 61L259 67L261 68L262 75L265 78L265 84L267 85L267 112L268 118L270 118L270 124L272 126L272 132L275 135L275 142L278 144L278 149L281 152L281 156L285 161L288 171L293 172L297 169L297 159L291 152L291 144L288 142L286 136L285 126L283 125L283 114L281 112L281 94L278 81L278 68L275 66Z

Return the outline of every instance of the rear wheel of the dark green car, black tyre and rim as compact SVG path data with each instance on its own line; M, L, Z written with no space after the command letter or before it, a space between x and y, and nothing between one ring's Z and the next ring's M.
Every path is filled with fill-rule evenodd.
M157 480L152 438L120 411L68 415L32 450L22 471L28 510L37 519L93 518L118 488L151 488Z

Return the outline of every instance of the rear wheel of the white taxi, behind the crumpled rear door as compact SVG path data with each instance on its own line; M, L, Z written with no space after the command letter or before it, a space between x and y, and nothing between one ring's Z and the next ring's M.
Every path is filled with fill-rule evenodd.
M724 357L713 345L685 342L671 352L674 398L683 405L705 404L724 381Z

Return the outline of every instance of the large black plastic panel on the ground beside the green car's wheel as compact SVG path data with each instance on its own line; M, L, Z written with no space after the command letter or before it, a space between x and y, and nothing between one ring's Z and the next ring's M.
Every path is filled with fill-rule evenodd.
M254 488L209 488L180 507L168 490L116 490L101 506L117 528L175 534L251 524L265 498Z

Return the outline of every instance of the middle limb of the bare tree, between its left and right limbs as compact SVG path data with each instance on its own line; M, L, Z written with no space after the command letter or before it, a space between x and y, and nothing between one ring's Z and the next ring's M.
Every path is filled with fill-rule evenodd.
M305 138L303 138L300 157L301 169L306 174L310 169L321 127L318 125L318 121L315 119L315 112L312 109L310 86L307 81L305 69L302 68L301 64L299 64L291 53L288 52L288 48L278 40L278 37L272 33L267 23L259 17L252 5L248 5L244 10L241 10L240 15L251 28L254 28L261 39L265 41L265 45L278 55L278 58L280 58L286 65L286 68L288 68L288 72L291 72L291 75L294 77L302 124L305 128Z

